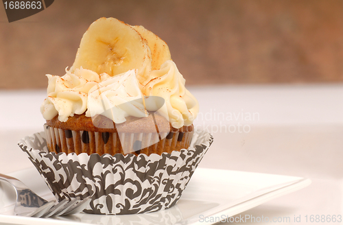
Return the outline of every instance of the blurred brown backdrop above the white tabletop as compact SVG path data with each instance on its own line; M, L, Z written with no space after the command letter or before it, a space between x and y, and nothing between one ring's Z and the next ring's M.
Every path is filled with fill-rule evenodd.
M8 23L0 5L0 88L64 75L100 17L143 25L169 45L187 84L343 81L342 0L56 0Z

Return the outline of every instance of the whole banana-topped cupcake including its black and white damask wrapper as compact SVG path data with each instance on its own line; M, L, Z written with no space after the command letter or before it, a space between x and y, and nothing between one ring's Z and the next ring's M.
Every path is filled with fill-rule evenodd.
M19 146L58 200L92 196L84 212L113 215L176 204L213 138L194 130L198 101L161 38L99 19L47 78L45 132Z

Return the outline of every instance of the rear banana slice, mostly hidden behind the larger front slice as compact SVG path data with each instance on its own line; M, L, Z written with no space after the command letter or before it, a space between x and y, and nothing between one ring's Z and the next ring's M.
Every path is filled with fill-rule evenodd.
M171 60L168 45L156 34L145 29L143 26L132 26L147 40L152 54L152 70L160 69L161 64L166 60Z

